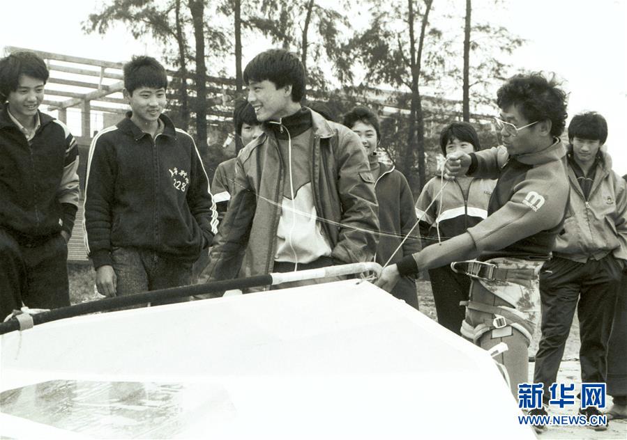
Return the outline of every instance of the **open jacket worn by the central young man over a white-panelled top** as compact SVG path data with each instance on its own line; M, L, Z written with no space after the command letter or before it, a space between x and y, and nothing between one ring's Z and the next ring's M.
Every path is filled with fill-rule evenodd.
M366 262L375 256L379 219L374 179L359 138L343 125L311 111L313 148L309 169L312 195L331 257L339 262ZM220 231L211 250L206 275L240 276L272 272L287 170L277 140L267 123L264 133L243 148L235 162L231 194Z

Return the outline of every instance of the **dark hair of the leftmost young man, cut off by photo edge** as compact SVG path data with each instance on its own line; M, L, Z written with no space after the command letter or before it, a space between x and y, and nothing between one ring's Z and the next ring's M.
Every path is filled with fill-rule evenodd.
M33 52L13 52L0 59L0 102L3 103L9 93L15 92L20 84L20 75L48 81L46 63Z

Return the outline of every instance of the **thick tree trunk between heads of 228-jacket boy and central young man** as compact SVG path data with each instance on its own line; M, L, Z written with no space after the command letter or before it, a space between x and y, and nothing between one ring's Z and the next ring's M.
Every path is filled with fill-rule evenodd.
M198 150L204 154L207 150L207 98L206 64L204 58L204 1L189 0L190 13L194 24L196 42L196 138Z

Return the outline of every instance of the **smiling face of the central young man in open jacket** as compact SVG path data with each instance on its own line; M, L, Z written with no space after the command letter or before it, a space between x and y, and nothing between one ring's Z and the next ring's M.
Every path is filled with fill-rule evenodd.
M289 116L294 113L295 105L300 107L292 101L292 86L277 88L268 79L248 83L248 103L255 109L259 122Z

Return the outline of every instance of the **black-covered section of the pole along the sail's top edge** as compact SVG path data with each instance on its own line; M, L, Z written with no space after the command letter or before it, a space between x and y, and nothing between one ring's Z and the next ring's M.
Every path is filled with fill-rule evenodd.
M178 288L152 290L151 292L98 299L96 301L75 304L74 306L55 308L51 311L36 313L31 315L31 317L33 318L33 324L38 325L45 322L63 320L68 317L86 315L88 313L109 311L113 308L137 306L137 304L146 304L167 299L191 297L208 293L221 293L225 290L254 288L271 284L272 276L269 274L250 276L248 278L235 278L225 281L212 281L211 283L205 284L186 285ZM7 322L0 322L0 335L19 329L20 323L15 317L12 317Z

